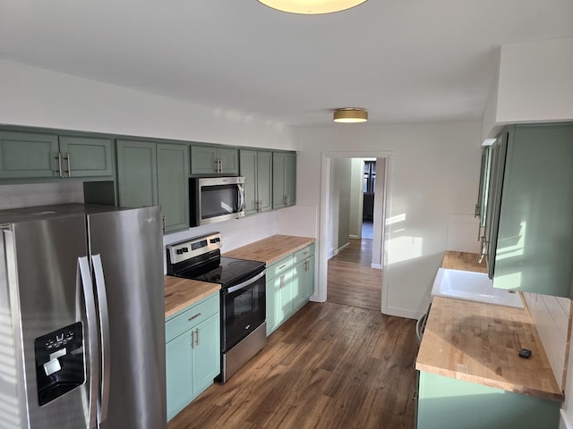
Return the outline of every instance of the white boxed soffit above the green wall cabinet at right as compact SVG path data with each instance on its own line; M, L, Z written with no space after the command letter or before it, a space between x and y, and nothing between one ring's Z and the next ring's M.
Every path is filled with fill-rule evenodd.
M573 120L573 38L501 46L483 118L484 137L517 122ZM494 118L494 119L493 119Z

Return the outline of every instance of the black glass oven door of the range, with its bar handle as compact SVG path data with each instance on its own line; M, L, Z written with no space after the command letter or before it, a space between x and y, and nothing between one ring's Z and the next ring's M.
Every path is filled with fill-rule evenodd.
M235 286L221 290L223 353L232 349L266 318L266 270Z

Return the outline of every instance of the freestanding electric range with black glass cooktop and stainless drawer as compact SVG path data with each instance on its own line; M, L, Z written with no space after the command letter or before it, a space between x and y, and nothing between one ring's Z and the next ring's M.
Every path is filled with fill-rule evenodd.
M217 232L167 246L167 273L221 284L221 374L226 383L267 343L263 262L221 257Z

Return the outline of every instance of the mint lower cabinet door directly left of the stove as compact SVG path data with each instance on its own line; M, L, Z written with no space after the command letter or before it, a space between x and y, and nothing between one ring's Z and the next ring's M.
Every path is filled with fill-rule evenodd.
M207 389L220 373L220 320L219 314L198 324L193 330L192 351L193 397Z

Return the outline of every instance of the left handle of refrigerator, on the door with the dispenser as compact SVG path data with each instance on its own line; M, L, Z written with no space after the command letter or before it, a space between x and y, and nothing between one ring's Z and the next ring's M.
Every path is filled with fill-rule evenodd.
M89 377L90 393L88 399L88 421L90 429L96 427L96 405L98 400L98 365L95 350L98 344L98 319L96 317L96 301L93 294L93 283L91 282L90 263L88 257L78 257L78 270L76 275L78 289L83 290L85 300L87 328L88 328L88 347L87 352L90 359Z

